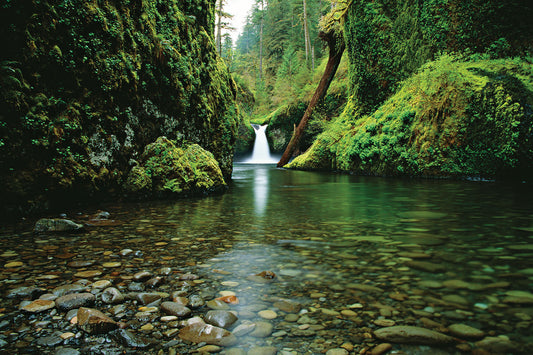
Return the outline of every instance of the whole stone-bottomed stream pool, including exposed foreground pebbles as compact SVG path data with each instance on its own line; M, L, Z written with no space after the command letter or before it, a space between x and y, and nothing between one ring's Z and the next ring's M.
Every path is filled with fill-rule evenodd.
M533 353L533 215L508 192L234 179L4 225L0 352Z

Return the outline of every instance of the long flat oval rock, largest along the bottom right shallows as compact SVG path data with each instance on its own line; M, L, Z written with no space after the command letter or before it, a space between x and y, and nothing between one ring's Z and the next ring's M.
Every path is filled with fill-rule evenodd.
M374 335L381 340L402 344L441 345L454 341L452 337L442 333L406 325L381 328L376 330Z

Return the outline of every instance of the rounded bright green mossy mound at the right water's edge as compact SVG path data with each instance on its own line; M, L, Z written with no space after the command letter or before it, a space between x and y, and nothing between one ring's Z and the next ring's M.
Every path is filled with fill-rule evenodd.
M533 176L533 65L443 56L370 115L353 102L290 165L360 174Z

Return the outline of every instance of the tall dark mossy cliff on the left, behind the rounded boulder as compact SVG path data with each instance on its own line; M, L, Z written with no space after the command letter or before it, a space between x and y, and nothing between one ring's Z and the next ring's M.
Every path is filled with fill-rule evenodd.
M236 89L215 51L214 1L1 6L2 207L120 194L160 136L201 146L231 176Z

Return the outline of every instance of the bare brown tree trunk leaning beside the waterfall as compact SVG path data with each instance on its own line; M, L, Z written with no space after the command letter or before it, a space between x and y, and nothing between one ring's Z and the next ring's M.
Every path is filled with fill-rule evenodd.
M300 138L302 136L302 133L304 132L305 126L307 125L307 121L309 121L309 118L313 114L313 110L315 109L317 103L322 100L324 96L326 96L326 93L329 89L329 85L335 77L335 73L337 72L337 68L339 67L339 64L341 62L342 53L344 52L345 47L342 34L338 34L336 31L331 31L328 33L320 32L318 35L322 40L326 41L328 45L328 63L326 64L326 69L324 70L324 74L322 74L320 83L318 84L318 87L316 88L315 93L311 98L311 102L309 102L309 105L305 110L302 120L298 124L298 127L296 127L296 129L294 130L291 140L289 141L287 148L285 148L285 152L283 152L283 155L281 156L281 159L278 162L278 168L281 168L289 162L294 150L300 142Z

